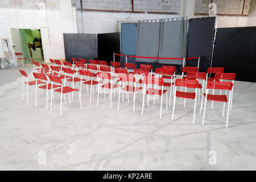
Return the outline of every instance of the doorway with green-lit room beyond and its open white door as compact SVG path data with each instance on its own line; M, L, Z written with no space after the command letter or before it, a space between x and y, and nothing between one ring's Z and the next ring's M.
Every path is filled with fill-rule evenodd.
M14 52L22 52L23 57L31 61L44 63L44 53L40 29L11 28ZM24 61L26 63L26 61ZM22 64L15 57L15 65Z

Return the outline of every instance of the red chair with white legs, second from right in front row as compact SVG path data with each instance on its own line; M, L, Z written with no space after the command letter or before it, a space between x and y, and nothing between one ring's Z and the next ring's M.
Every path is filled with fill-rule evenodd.
M192 88L192 89L195 89L195 92L177 91L177 86L181 86L181 87L185 87L185 88ZM180 98L184 98L184 99L189 98L189 99L195 100L193 124L195 123L197 88L198 88L197 80L187 80L187 79L176 79L175 80L175 96L174 96L174 106L172 107L172 121L174 121L174 110L175 110L176 97L180 97ZM185 102L184 102L184 107L185 107Z

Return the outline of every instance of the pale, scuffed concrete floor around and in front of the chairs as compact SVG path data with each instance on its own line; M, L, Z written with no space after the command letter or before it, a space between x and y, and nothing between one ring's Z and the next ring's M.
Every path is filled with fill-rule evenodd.
M29 69L29 68L27 68ZM1 82L13 78L17 68L1 71ZM4 75L4 76L3 76ZM32 75L30 74L30 78ZM22 102L21 78L0 86L0 169L1 170L255 170L256 169L256 85L236 81L229 128L225 129L222 104L207 106L205 125L197 104L192 125L193 101L177 100L174 121L171 107L163 109L160 100L144 108L142 96L121 104L89 97L82 91L82 110L75 93L72 105L63 105L55 95L53 111L46 111L45 96L30 88L29 105ZM163 102L165 104L165 100ZM39 151L46 152L46 164L39 165ZM216 164L209 164L209 152L216 152ZM212 158L210 158L212 159Z

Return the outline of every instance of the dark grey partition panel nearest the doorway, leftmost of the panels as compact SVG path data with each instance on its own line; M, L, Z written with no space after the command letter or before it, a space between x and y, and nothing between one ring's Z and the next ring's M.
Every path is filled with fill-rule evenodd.
M76 59L97 59L98 44L97 34L63 34L65 60Z

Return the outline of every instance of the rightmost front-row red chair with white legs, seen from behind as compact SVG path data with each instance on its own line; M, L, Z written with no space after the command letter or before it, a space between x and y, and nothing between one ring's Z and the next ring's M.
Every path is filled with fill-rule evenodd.
M207 101L217 101L217 102L224 102L223 104L223 111L222 111L222 117L224 117L224 111L225 111L225 103L228 102L228 114L226 117L226 128L228 128L228 120L229 120L229 110L230 110L230 101L231 101L231 95L232 95L232 88L233 83L232 82L226 82L226 81L208 81L207 82L207 90L206 93L204 93L205 102L204 102L204 116L203 116L203 122L204 125L204 118L205 118L205 109ZM209 89L214 90L229 90L229 99L227 95L216 95L216 94L209 94ZM203 100L203 98L202 98ZM203 103L203 102L202 102ZM203 105L201 104L200 113Z

